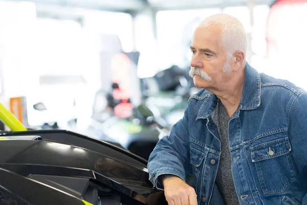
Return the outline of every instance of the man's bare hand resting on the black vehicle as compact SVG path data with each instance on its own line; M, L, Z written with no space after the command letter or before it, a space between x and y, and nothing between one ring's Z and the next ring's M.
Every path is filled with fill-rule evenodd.
M195 190L181 178L165 178L163 185L168 205L197 205Z

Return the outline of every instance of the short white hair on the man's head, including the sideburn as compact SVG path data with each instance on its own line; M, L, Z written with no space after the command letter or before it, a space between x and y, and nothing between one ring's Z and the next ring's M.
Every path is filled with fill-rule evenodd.
M241 50L246 54L246 30L238 19L228 14L215 14L205 18L199 25L202 28L210 26L218 26L221 29L220 48L227 53L226 64L230 64L230 60L235 51ZM230 65L225 65L224 71L230 71Z

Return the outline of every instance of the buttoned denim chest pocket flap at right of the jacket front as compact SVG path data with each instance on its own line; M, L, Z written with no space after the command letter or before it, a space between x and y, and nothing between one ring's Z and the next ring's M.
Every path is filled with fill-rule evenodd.
M272 140L251 147L252 162L270 159L291 151L288 137Z

